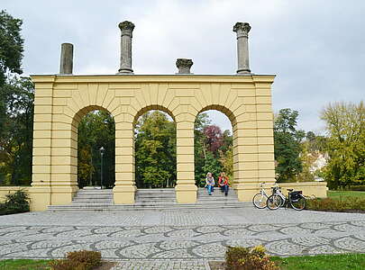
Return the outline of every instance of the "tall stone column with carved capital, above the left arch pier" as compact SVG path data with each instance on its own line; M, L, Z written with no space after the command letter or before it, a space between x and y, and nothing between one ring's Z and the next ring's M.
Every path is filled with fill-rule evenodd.
M119 23L121 35L121 67L118 74L133 74L132 69L132 31L134 24L128 21Z

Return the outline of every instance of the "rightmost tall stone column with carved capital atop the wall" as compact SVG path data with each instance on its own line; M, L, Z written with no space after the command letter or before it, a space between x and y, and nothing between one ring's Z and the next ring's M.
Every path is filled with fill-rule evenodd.
M237 33L237 56L238 56L238 75L247 75L251 73L249 63L249 23L236 23L233 31Z

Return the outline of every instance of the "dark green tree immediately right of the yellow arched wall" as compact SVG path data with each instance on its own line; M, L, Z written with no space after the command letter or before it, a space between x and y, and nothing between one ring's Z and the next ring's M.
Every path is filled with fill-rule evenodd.
M274 152L278 162L276 167L278 182L295 180L303 169L299 154L300 142L305 137L305 132L296 129L297 116L297 111L281 109L274 121Z

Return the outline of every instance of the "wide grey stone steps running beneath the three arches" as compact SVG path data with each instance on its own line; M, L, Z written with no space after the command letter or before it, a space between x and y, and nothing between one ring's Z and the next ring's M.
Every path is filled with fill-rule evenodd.
M224 196L220 189L215 188L208 195L204 188L197 191L196 203L177 203L174 188L138 189L134 204L114 204L111 189L84 188L78 191L68 205L50 205L50 211L178 211L188 209L224 209L251 207L251 202L238 202L237 195L230 190Z

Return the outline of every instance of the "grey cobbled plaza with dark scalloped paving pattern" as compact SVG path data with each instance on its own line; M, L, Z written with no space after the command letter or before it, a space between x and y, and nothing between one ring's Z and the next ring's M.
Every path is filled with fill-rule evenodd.
M59 258L99 250L114 269L209 269L226 246L270 255L365 252L365 215L320 211L29 212L0 217L0 257Z

